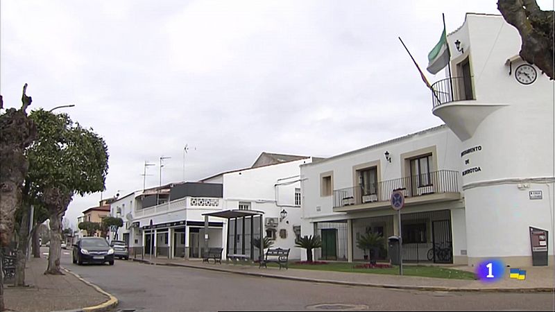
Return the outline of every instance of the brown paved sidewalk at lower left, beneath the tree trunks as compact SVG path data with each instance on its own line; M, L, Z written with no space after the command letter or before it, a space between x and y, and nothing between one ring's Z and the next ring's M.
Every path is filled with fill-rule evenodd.
M63 311L97 306L110 297L96 291L75 275L44 275L48 262L44 258L27 261L25 281L29 287L4 284L4 304L7 311Z

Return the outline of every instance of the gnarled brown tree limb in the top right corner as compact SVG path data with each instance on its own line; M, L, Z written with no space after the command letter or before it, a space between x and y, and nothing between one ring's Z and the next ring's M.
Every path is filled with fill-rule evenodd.
M554 63L554 11L540 10L536 0L499 0L497 8L507 23L514 26L520 38L520 57L535 64L552 80Z

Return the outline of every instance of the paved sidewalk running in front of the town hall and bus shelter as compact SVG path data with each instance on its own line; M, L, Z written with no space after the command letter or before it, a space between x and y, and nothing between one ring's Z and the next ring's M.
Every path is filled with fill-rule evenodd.
M150 263L146 259L135 259L135 261ZM222 261L222 264L214 264L212 261L207 264L196 260L153 259L151 264L217 270L221 272L232 272L244 275L293 279L317 283L331 283L350 286L373 286L418 291L552 292L555 288L555 268L553 267L521 268L522 270L527 270L525 280L510 279L509 274L506 274L504 279L501 281L484 284L478 280L437 279L432 277L332 272L324 270L280 270L279 268L273 267L260 269L258 266L227 264L225 261ZM456 266L453 268L456 270L472 271L472 268L469 267Z

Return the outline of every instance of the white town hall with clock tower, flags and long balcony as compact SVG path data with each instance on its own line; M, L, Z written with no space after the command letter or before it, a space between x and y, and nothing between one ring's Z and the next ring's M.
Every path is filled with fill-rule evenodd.
M395 189L407 196L404 259L427 261L436 243L448 251L436 262L531 266L531 227L553 236L553 83L518 57L500 15L469 13L447 42L452 78L432 85L446 125L301 166L302 235L323 239L316 259L361 259L361 233L398 234Z

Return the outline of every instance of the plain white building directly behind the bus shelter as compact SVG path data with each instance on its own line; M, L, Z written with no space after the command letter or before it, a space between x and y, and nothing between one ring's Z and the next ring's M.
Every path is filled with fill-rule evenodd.
M296 237L301 231L300 166L314 160L319 159L262 153L250 168L219 173L201 182L223 184L224 209L262 211L264 232L273 240L272 248L290 248L289 259L300 259L301 249L295 247ZM282 218L282 215L285 217ZM257 237L259 227L255 224L250 229L246 223L243 232L243 222L241 218L230 219L230 239L225 241L224 254L250 256L254 251L250 248L250 231ZM233 243L234 237L239 243Z

